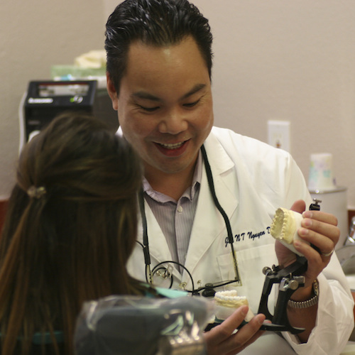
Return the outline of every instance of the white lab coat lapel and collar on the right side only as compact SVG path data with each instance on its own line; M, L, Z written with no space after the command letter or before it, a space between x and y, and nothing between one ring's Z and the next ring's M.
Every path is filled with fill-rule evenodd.
M209 165L211 165L217 199L230 218L238 205L237 197L239 195L238 185L231 171L234 168L234 162L214 136L210 135L207 138L204 147ZM215 207L209 190L206 170L203 169L199 201L185 262L185 266L191 273L214 239L221 233L226 234L226 225L222 214Z

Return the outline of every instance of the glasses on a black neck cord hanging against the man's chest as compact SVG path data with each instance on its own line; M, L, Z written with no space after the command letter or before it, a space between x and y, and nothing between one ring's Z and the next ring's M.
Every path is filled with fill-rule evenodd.
M178 261L162 261L161 263L158 263L154 268L151 269L151 255L149 253L148 226L147 226L146 212L144 207L143 191L141 191L139 194L139 207L141 210L141 218L142 218L142 226L143 226L143 244L141 244L140 241L137 241L137 243L141 244L143 248L144 263L146 264L147 283L151 283L152 285L155 286L163 286L165 288L171 288L173 286L173 265L172 264L175 264L177 266L180 266L180 268L183 268L187 272L187 274L190 276L190 280L192 283L192 290L185 289L186 283L181 283L180 288L182 288L183 290L189 293L192 293L192 295L200 295L200 292L202 291L203 296L212 297L214 296L215 293L214 288L219 288L224 285L229 285L231 283L236 283L237 285L240 286L241 280L239 278L239 271L236 263L236 253L233 247L234 238L231 231L231 224L226 215L226 212L222 208L221 204L219 204L219 201L217 199L216 192L214 190L214 182L212 177L211 166L209 165L209 161L207 159L207 153L206 150L204 149L204 146L201 147L201 153L202 153L202 158L204 160L204 168L207 174L209 191L211 192L212 198L214 200L214 205L219 210L219 213L222 214L224 223L226 224L227 237L228 237L229 245L231 246L231 256L233 258L233 264L234 264L233 265L234 273L235 273L234 280L224 280L224 281L220 281L219 283L207 283L204 286L199 285L198 288L195 288L195 283L190 271L188 271L187 268L181 263L179 263Z

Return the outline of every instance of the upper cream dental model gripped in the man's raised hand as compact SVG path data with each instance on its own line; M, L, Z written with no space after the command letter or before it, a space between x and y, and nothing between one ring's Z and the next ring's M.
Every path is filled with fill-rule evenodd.
M302 218L302 214L298 212L278 208L273 217L270 229L270 233L275 239L278 239L286 248L300 256L303 254L295 249L293 241L300 239L300 236L297 234L297 229L301 226Z

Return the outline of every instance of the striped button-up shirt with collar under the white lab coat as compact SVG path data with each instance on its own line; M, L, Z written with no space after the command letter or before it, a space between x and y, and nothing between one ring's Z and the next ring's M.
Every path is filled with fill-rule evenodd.
M172 197L153 190L146 178L143 190L146 202L163 231L173 261L185 265L187 249L190 243L192 224L195 218L200 182L202 178L202 155L199 152L192 186L182 194L178 202Z

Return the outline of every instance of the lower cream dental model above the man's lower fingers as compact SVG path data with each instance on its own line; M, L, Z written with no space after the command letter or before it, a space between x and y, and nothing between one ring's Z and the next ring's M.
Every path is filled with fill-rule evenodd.
M226 320L237 308L249 305L246 297L238 296L236 290L219 291L215 293L214 302L216 304L215 315L219 320ZM251 312L249 308L245 317L246 322L249 322L253 316L253 312Z

